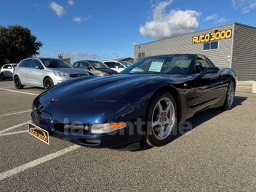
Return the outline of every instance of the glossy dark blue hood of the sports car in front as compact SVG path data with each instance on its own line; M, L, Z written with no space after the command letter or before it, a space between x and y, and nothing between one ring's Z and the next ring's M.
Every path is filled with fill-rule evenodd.
M116 75L87 76L72 81L64 81L49 89L57 97L84 98L92 100L123 100L146 86L153 89L156 84L171 81L170 76L158 75ZM149 91L149 90L148 90Z

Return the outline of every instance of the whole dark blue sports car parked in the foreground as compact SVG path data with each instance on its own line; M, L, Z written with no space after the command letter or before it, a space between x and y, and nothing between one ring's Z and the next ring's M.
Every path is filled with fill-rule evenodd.
M161 146L195 113L231 109L235 89L233 70L204 55L147 57L116 76L57 84L36 97L31 116L33 124L84 146Z

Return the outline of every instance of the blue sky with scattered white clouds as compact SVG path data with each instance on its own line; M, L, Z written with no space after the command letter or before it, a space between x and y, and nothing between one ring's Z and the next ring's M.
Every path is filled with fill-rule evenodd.
M23 25L41 56L133 57L134 44L226 23L256 26L256 0L1 0L0 25Z

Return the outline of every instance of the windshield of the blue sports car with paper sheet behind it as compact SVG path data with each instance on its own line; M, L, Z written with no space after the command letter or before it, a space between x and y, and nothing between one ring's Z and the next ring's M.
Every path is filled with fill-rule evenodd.
M122 74L185 74L188 73L193 55L168 55L148 57L121 71Z

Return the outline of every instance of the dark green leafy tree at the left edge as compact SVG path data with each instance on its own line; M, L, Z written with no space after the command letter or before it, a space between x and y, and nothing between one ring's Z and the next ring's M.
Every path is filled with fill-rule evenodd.
M20 25L0 26L0 65L19 63L26 57L39 55L41 41L31 34L29 28Z

